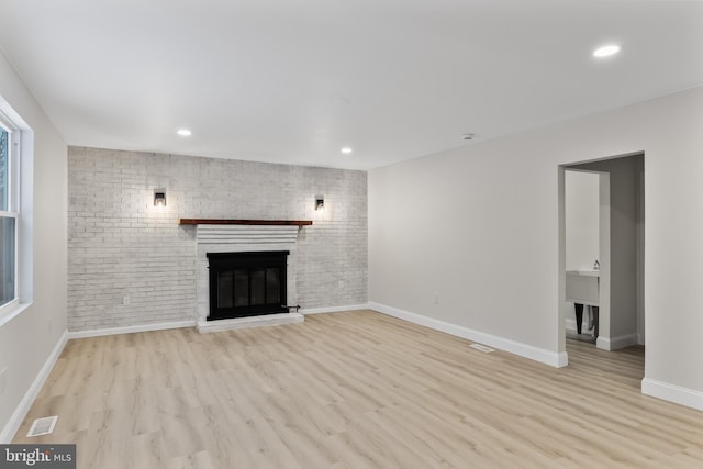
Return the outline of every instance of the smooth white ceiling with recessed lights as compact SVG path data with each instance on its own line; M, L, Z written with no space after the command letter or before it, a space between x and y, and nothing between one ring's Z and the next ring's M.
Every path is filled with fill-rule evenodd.
M703 2L1 0L0 46L69 145L370 169L703 83Z

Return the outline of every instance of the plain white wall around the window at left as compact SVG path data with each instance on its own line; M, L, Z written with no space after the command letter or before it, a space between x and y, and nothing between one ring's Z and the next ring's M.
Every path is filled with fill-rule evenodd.
M23 401L66 332L66 144L40 105L0 53L0 97L32 129L33 200L23 200L33 252L32 304L0 326L0 370L8 369L7 390L0 395L0 443L11 438ZM33 163L33 164L32 164ZM26 172L24 176L27 176ZM18 411L19 410L19 411ZM14 414L14 416L13 416Z

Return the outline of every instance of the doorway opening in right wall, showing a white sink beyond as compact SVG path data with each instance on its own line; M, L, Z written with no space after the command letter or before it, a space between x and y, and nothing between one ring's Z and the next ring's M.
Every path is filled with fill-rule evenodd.
M585 338L595 335L595 347L645 345L644 158L637 153L559 166L560 351L567 335L578 332L577 311L588 305L596 311L598 332L583 313L580 328ZM590 290L574 293L573 279Z

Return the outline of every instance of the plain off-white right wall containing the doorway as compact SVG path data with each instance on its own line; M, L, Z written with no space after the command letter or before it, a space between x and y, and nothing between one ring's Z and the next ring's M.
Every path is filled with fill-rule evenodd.
M641 152L643 389L703 409L702 127L699 87L370 171L369 301L562 353L558 166Z

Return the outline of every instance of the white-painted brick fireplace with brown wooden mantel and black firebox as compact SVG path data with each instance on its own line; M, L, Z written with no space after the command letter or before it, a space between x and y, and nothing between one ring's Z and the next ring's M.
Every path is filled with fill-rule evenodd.
M179 223L186 231L189 231L189 226L196 225L196 315L199 332L293 324L303 321L301 314L290 312L282 305L298 305L297 275L300 269L300 255L295 245L302 226L309 226L312 222L180 219ZM267 265L271 257L278 259ZM269 260L266 260L267 258ZM238 261L242 261L243 266L235 276ZM264 264L254 265L259 261ZM259 269L254 269L252 275L253 267ZM264 273L261 268L265 270ZM276 268L280 268L280 273ZM215 273L217 270L224 273ZM278 301L276 293L269 288L275 284L277 273L280 288ZM222 294L217 292L221 283ZM244 287L245 283L248 283L248 289ZM227 293L230 289L233 293ZM241 291L242 294L237 297L235 291Z

